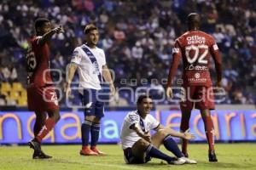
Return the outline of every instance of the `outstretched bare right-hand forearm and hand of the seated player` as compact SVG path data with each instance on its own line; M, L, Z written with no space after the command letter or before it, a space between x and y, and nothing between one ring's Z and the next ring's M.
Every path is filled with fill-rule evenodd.
M186 130L184 133L179 133L175 130L172 130L172 128L164 127L160 124L156 129L156 131L160 130L166 130L167 133L169 133L171 136L177 137L177 138L183 138L183 139L195 139L195 135L189 133L189 129Z

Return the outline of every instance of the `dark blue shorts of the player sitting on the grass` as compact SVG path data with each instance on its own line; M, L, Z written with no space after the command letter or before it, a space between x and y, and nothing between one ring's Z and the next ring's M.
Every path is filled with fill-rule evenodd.
M126 148L124 150L124 160L128 164L141 164L147 163L151 160L151 157L145 154L145 157L142 159L137 158L137 156L132 154L131 148Z

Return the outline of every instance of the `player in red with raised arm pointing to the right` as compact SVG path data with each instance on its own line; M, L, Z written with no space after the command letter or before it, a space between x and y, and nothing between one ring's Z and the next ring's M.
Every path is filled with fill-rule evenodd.
M36 122L33 128L34 139L28 144L34 150L33 159L51 158L41 150L42 139L60 119L55 88L49 71L49 42L62 27L51 28L48 19L40 18L35 22L36 36L32 37L26 54L27 61L27 105L29 111L35 111ZM46 115L48 113L48 117Z

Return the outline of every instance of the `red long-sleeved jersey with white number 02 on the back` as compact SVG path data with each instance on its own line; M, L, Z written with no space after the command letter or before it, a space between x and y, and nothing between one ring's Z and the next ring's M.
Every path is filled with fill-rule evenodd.
M172 85L179 60L183 59L183 86L212 86L209 67L212 56L221 80L221 58L218 45L213 37L203 31L187 31L178 37L172 48L172 65L169 71L168 86Z

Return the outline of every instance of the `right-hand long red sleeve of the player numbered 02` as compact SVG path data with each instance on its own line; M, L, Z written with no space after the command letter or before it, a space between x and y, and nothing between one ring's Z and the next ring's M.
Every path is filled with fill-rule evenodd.
M215 71L217 75L217 86L221 86L221 79L222 79L222 62L221 56L218 51L218 45L214 42L211 48L212 58L215 64Z

